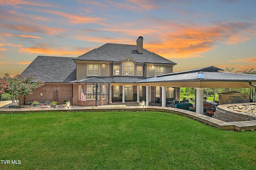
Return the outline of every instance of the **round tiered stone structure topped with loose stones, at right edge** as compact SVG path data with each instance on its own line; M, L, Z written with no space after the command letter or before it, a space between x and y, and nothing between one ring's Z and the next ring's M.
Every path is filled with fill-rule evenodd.
M256 120L256 103L219 105L214 118L225 122Z

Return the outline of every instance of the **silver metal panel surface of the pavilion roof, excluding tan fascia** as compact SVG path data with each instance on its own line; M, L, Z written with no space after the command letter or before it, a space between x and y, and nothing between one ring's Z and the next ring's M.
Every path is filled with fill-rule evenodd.
M201 75L200 75L201 74ZM241 74L232 72L192 72L185 74L166 75L162 77L152 77L143 82L182 82L182 81L256 81L256 75L253 74Z

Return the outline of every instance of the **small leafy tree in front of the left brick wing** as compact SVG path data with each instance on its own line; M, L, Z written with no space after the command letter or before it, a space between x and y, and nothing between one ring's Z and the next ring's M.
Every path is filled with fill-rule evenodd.
M9 74L5 74L5 77L2 79L6 82L5 92L12 95L17 101L18 105L21 106L22 98L28 94L32 94L35 88L43 86L44 83L37 81L33 82L36 79L35 75L27 76L26 78L20 76L19 74L10 78Z

